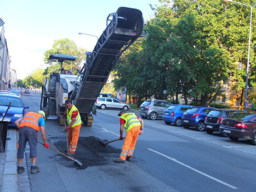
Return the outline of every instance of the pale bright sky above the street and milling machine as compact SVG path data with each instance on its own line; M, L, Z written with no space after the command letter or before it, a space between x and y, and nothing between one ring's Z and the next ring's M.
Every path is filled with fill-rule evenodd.
M154 16L149 4L158 0L1 0L0 16L11 57L11 68L24 79L46 68L44 52L54 40L68 38L79 48L92 51L106 28L106 18L119 7L141 10L144 21ZM79 35L83 32L89 35Z

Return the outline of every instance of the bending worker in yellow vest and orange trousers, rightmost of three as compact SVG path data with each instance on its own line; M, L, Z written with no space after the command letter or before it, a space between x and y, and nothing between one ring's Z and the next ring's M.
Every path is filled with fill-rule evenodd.
M126 136L120 157L115 160L115 162L125 163L126 160L132 161L132 154L135 149L138 135L143 134L144 121L134 113L127 113L126 110L121 110L118 116L120 116L120 140L123 139L124 130L126 131Z

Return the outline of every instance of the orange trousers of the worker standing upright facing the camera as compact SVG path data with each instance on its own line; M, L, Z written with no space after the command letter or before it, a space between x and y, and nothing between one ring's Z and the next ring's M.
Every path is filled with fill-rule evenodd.
M68 143L69 143L69 152L75 153L76 146L79 138L79 132L82 124L76 125L74 127L69 128L68 130Z

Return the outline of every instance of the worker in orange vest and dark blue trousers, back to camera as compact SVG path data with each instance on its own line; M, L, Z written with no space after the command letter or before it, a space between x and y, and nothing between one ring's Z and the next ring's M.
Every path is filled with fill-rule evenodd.
M40 172L38 166L36 166L36 159L38 158L37 154L37 139L38 131L41 129L42 139L44 140L44 147L48 148L49 144L47 143L46 133L44 130L45 126L45 114L43 111L28 112L23 117L18 118L14 123L19 129L19 142L18 142L18 174L21 174L25 171L25 168L22 166L22 160L24 159L24 150L26 143L29 143L30 148L30 159L32 160L30 173Z

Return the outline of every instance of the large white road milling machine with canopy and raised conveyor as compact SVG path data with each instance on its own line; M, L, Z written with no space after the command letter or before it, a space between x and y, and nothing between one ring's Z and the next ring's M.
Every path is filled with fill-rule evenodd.
M92 126L92 108L118 58L134 41L148 36L143 32L144 20L138 9L120 7L108 15L106 25L93 51L86 52L86 62L78 76L52 73L45 79L41 110L48 116L57 116L59 124L69 98L84 125ZM76 57L50 54L49 59L58 60L62 66L63 61L74 61Z

